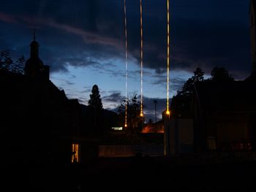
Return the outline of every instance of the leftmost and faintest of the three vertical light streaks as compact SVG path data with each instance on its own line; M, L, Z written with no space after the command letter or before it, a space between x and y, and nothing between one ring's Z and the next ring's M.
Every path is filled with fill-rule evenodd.
M124 118L124 127L127 127L127 77L128 77L128 64L127 64L127 57L128 57L128 45L127 45L127 5L126 0L124 0L124 34L125 34L125 118Z

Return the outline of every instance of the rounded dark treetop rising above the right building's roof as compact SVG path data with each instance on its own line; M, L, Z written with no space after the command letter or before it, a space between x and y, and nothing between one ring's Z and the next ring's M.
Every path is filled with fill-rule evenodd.
M229 74L227 69L225 69L224 67L215 66L214 69L211 70L211 80L219 82L228 82L233 81L234 78Z

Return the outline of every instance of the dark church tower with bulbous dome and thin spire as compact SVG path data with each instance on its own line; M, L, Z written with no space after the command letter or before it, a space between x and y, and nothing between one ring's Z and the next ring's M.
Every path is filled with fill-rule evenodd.
M29 77L49 80L49 66L44 65L39 58L39 44L36 41L35 33L34 40L30 44L30 58L26 61L24 72Z

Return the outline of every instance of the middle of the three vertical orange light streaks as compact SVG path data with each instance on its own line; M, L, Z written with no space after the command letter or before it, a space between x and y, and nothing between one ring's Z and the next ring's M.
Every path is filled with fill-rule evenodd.
M143 25L142 0L140 0L140 117L143 117Z

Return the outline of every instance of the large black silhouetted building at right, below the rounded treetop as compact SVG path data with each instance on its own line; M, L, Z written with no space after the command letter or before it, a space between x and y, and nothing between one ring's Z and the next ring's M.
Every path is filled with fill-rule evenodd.
M195 151L255 147L255 82L197 82L192 101Z

